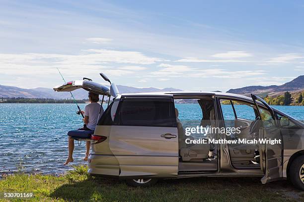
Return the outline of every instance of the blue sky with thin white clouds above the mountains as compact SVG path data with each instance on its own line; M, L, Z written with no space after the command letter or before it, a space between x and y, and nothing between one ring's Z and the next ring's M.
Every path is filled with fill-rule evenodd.
M301 0L0 0L0 85L228 91L304 75Z

